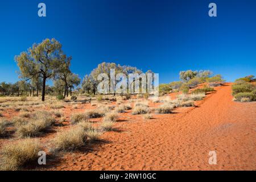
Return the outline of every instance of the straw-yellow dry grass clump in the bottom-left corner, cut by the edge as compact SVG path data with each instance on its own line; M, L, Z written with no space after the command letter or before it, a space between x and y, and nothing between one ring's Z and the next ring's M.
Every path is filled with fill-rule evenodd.
M1 150L1 169L17 170L28 162L36 161L38 152L42 150L39 141L35 139L6 144Z

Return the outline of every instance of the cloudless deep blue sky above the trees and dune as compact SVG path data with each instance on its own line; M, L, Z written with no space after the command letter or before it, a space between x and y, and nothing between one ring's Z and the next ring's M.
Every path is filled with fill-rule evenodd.
M39 18L38 3L47 6ZM217 18L208 16L210 2ZM256 1L31 0L0 3L0 82L15 82L14 56L55 38L82 78L102 61L159 73L210 69L227 81L256 75Z

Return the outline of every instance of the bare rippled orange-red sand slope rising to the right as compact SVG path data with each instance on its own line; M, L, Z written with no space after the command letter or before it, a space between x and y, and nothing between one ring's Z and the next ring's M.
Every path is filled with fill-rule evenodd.
M174 114L122 115L102 142L64 155L55 170L256 169L256 102L232 101L231 86ZM209 151L217 165L209 165Z

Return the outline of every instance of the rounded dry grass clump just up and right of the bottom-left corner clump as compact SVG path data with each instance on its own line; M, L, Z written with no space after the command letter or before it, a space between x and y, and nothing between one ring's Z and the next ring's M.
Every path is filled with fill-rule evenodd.
M53 139L55 150L72 151L84 146L87 136L81 127L72 127L68 131L57 133Z

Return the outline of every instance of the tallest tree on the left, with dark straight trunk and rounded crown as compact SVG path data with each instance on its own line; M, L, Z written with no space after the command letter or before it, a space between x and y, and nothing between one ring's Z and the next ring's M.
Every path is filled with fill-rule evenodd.
M61 44L55 39L45 39L42 43L34 44L27 52L15 56L20 69L19 76L26 80L34 77L42 78L42 101L46 94L46 81L55 76L61 65L63 51Z

